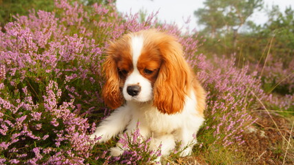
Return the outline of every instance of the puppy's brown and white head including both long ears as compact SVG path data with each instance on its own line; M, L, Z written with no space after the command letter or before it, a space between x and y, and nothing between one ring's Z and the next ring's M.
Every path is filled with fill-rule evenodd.
M151 101L162 113L182 110L191 73L173 36L156 30L127 34L111 43L107 54L103 98L109 107L127 100Z

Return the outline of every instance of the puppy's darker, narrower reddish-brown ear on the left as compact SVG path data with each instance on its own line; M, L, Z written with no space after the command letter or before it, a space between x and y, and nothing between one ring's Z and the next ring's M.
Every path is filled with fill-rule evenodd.
M107 58L103 64L103 73L105 73L106 83L102 89L102 96L108 107L116 109L123 104L123 95L119 88L119 76L116 61L112 54L113 47L107 51Z

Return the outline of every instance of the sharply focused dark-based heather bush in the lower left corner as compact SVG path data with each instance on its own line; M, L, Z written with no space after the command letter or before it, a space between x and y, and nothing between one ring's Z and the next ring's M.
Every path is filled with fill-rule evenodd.
M59 104L56 82L45 87L42 103L34 103L28 87L14 94L8 88L0 89L1 164L81 164L89 157L90 124L73 113L73 101Z

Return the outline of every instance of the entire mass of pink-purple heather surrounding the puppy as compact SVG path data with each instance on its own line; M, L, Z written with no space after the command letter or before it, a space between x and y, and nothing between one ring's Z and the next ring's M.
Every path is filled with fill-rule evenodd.
M100 97L105 48L126 32L157 28L183 45L208 91L200 146L241 144L257 97L268 99L247 67L234 67L233 58L207 60L197 52L200 37L160 24L154 14L139 22L138 14L118 14L113 3L55 4L54 12L32 10L0 32L0 164L146 164L160 156L160 149L149 151L151 139L139 142L138 129L118 140L126 149L120 157L107 152L113 140L91 148L87 136L110 112Z

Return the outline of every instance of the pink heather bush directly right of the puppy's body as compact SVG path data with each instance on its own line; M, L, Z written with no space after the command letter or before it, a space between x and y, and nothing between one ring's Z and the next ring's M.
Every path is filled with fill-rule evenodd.
M242 132L254 122L249 109L258 107L255 95L264 99L260 80L248 75L247 67L238 69L234 58L215 56L207 61L200 78L207 89L206 122L200 137L209 133L209 138L198 138L202 144L242 144Z

